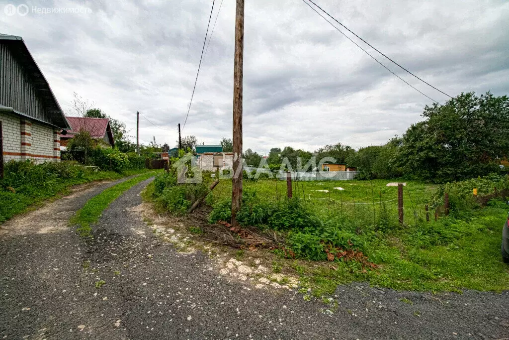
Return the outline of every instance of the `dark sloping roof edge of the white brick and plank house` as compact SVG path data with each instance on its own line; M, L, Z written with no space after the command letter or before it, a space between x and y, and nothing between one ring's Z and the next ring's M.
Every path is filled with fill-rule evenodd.
M42 98L44 107L51 115L52 123L60 128L70 128L69 122L65 118L64 111L60 107L59 102L56 100L53 91L49 87L49 83L42 74L41 69L37 65L34 57L30 54L28 47L26 47L23 38L0 33L0 41L9 44L12 47L12 52L19 58L23 67L25 67L33 77L33 83L36 86L39 96Z

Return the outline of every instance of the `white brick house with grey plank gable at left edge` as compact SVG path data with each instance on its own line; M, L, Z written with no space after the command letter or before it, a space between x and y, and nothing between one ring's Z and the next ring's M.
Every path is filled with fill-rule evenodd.
M62 109L21 37L0 34L0 162L60 161Z

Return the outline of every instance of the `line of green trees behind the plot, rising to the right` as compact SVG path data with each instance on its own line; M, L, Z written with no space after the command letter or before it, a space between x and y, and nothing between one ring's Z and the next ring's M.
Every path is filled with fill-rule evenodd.
M297 159L306 163L331 157L337 163L357 167L359 179L406 177L433 182L473 178L500 172L500 163L509 156L509 98L490 92L476 96L462 93L445 104L426 106L423 121L412 124L403 136L394 136L384 145L358 150L336 143L314 152L270 149L267 163L277 167L288 159L294 169ZM247 149L248 165L260 164L262 155Z

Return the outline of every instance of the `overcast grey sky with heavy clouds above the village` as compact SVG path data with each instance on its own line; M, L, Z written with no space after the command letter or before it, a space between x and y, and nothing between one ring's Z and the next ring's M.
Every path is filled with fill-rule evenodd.
M509 2L315 0L422 79L450 94L509 91ZM212 24L221 0L216 0ZM4 13L26 4L25 16ZM23 37L64 111L73 91L173 146L183 124L211 0L4 1L0 33ZM89 8L85 13L32 12ZM87 13L91 12L91 13ZM232 136L235 0L223 0L183 135ZM343 31L345 31L343 29ZM349 34L349 36L351 36ZM246 0L244 150L355 148L402 135L432 101L348 41L302 0ZM362 45L358 39L352 38ZM367 50L431 98L447 97Z

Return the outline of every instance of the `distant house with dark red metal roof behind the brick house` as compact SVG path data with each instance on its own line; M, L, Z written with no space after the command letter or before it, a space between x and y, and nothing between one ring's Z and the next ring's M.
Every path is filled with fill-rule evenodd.
M86 131L90 136L97 140L103 140L111 147L115 147L113 134L109 119L107 118L82 118L82 117L66 117L71 125L71 129L67 130L67 134L60 136L60 145L62 149L67 147L70 139L74 138L81 131Z

